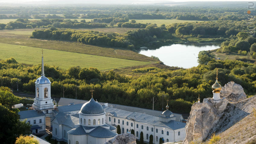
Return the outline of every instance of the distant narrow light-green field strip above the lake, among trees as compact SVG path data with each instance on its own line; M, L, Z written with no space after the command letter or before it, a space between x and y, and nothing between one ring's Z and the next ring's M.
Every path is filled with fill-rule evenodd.
M176 19L170 19L170 20L136 20L136 23L151 23L151 24L157 24L158 26L161 26L162 24L169 25L174 23L184 23L184 22L196 22L196 21L185 21L185 20L176 20ZM200 21L197 21L200 22Z

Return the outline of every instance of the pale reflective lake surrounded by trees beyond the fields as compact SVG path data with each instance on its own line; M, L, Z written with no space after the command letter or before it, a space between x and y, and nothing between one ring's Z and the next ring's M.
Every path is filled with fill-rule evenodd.
M219 45L212 44L172 44L155 50L141 50L145 56L156 56L167 66L191 68L198 66L197 56L203 50L215 50Z

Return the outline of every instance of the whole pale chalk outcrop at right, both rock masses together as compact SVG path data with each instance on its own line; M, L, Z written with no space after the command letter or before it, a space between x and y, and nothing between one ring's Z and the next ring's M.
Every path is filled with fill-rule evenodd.
M240 106L246 101L244 100L246 99L246 95L241 85L238 85L233 81L227 83L222 87L220 96L222 98L220 100L205 98L203 99L203 103L194 103L192 105L190 116L187 119L185 127L186 137L183 144L189 144L191 141L202 142L207 139L210 133L219 131L221 127L225 126L226 129L227 124L224 123L227 119L232 116L236 117L236 114L241 118L247 115L242 109L242 106ZM235 105L234 102L236 102ZM235 107L240 108L235 112ZM231 122L232 120L229 120L229 123ZM229 125L231 126L231 124Z

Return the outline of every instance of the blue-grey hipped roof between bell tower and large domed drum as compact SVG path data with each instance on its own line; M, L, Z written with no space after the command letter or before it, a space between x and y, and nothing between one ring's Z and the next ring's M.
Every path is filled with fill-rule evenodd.
M56 119L59 124L64 124L72 128L74 128L75 125L79 125L79 114L65 114L60 112L54 117L54 119Z

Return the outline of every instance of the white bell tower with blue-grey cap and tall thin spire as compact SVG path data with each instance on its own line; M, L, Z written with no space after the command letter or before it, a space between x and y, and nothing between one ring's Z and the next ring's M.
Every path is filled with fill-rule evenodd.
M42 69L41 76L35 82L36 98L32 107L42 111L44 114L52 113L54 108L53 99L51 98L51 82L44 76L43 50L42 50Z

